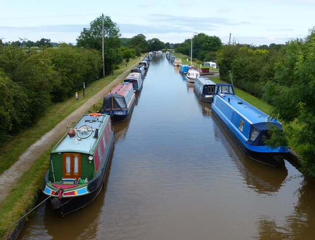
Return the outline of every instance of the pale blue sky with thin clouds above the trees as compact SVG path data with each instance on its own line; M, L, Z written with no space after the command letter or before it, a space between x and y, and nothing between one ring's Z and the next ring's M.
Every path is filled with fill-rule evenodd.
M193 32L255 46L304 38L315 26L315 0L6 0L0 39L76 44L83 28L109 16L122 37L181 43Z

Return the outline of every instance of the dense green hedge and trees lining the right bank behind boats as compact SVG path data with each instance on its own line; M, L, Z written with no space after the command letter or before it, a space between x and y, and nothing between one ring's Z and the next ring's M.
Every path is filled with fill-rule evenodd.
M315 176L315 29L284 45L223 45L217 56L222 80L231 74L234 86L273 106L273 117L289 129L274 139L300 146L303 170Z

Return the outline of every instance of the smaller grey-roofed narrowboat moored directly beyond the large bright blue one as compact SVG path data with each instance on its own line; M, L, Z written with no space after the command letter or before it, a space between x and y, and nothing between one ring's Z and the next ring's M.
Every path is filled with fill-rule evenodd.
M216 84L209 78L196 77L193 90L198 98L204 102L213 102Z

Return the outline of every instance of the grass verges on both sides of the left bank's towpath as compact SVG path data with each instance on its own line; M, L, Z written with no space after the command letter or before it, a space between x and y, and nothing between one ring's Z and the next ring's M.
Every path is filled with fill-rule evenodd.
M114 76L108 75L105 78L99 79L94 83L91 83L89 86L86 86L85 98L83 98L83 90L81 90L79 91L79 100L75 100L75 93L73 93L72 98L62 103L53 104L50 109L43 114L43 117L38 121L38 123L15 136L1 148L0 173L3 173L15 161L17 161L18 157L43 134L54 128L55 125L68 116L72 111L77 109L96 92L116 79L117 76L126 71L130 65L137 62L138 59L130 60L127 67L126 63L122 63L120 65L120 69L114 70ZM93 106L91 106L91 110L93 110ZM73 123L75 121L76 120L73 120ZM7 237L14 226L5 231L6 228L24 215L26 210L32 209L35 205L36 196L38 196L38 193L40 192L45 172L49 166L50 151L57 142L58 140L51 145L49 150L46 150L34 161L32 166L30 166L30 170L21 176L17 185L10 192L5 193L8 196L1 202L0 205L1 239Z

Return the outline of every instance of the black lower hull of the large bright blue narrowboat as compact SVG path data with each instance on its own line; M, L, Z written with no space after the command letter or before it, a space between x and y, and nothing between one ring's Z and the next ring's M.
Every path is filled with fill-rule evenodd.
M278 167L284 164L284 157L280 152L261 152L261 151L253 151L237 137L237 135L231 130L231 128L225 123L225 121L221 118L221 116L217 113L216 107L212 106L211 113L215 116L223 128L227 131L229 136L233 139L236 145L242 150L242 152L250 157L251 159L272 166Z

